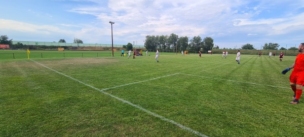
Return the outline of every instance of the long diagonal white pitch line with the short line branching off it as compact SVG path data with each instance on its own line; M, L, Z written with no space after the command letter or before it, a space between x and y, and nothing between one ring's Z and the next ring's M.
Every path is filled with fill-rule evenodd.
M36 61L34 61L34 60L32 60L32 59L30 59L30 60L33 61L33 62L36 62ZM195 134L197 134L197 135L199 135L199 136L207 136L207 135L202 134L202 133L200 133L200 132L198 132L198 131L196 131L196 130L193 130L193 129L191 129L191 128L188 128L188 127L186 127L186 126L184 126L184 125L182 125L182 124L179 124L179 123L177 123L177 122L175 122L175 121L173 121L173 120L167 119L167 118L165 118L165 117L163 117L163 116L161 116L161 115L158 115L158 114L156 114L156 113L153 113L153 112L151 112L151 111L148 111L148 110L146 110L146 109L144 109L144 108L142 108L142 107L140 107L140 106L137 106L137 105L135 105L135 104L133 104L133 103L127 101L127 100L124 100L124 99L122 99L122 98L119 98L119 97L117 97L117 96L114 96L114 95L112 95L112 94L109 94L109 93L104 92L104 90L107 90L107 89L113 89L113 88L122 87L122 86L126 86L126 85L131 85L131 84L136 84L136 83L140 83L140 82L146 82L146 81L150 81L150 80L160 79L160 78L164 78L164 77L173 76L173 75L176 75L176 74L179 74L179 73L172 74L172 75L167 75L167 76L163 76L163 77L158 77L158 78L153 78L153 79L149 79L149 80L145 80L145 81L139 81L139 82L135 82L135 83L125 84L125 85L121 85L121 86L116 86L116 87L112 87L112 88L106 88L106 89L100 90L100 89L98 89L98 88L96 88L96 87L93 87L93 86L91 86L91 85L89 85L89 84L86 84L86 83L84 83L84 82L82 82L82 81L80 81L80 80L74 79L74 78L72 78L72 77L70 77L70 76L67 76L67 75L63 74L63 73L60 73L60 72L58 72L58 71L55 71L55 70L53 70L52 68L50 68L50 67L48 67L48 66L46 66L46 65L44 65L44 64L41 64L41 63L39 63L39 62L36 62L36 63L37 63L37 64L40 64L40 65L42 65L42 66L44 66L44 67L46 67L46 68L49 68L50 70L52 70L52 71L54 71L54 72L56 72L56 73L58 73L58 74L60 74L60 75L63 75L63 76L65 76L65 77L67 77L67 78L70 78L70 79L72 79L72 80L74 80L74 81L77 81L77 82L79 82L79 83L81 83L81 84L84 84L84 85L86 85L86 86L88 86L88 87L91 87L91 88L93 88L93 89L96 89L96 90L98 90L99 92L101 92L101 93L103 93L103 94L106 94L106 95L108 95L108 96L110 96L110 97L113 97L113 98L115 98L115 99L118 99L118 100L120 100L120 101L122 101L122 102L125 102L126 104L129 104L129 105L131 105L131 106L133 106L133 107L135 107L135 108L138 108L138 109L140 109L140 110L142 110L142 111L144 111L144 112L146 112L146 113L148 113L148 114L150 114L150 115L153 115L153 116L155 116L155 117L158 117L158 118L160 118L160 119L162 119L162 120L164 120L164 121L170 122L170 123L172 123L172 124L174 124L174 125L176 125L176 126L182 128L182 129L184 129L184 130L187 130L187 131L189 131L189 132L193 132L193 133L195 133Z

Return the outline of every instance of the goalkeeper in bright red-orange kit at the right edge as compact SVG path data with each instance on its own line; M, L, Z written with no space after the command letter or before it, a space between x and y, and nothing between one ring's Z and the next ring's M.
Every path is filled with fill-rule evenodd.
M302 87L304 86L304 43L301 43L299 45L298 51L300 53L296 56L295 62L290 67L282 71L282 74L286 74L293 68L293 71L289 77L290 86L294 92L294 95L292 97L294 100L290 102L291 104L299 103L299 99L303 91Z

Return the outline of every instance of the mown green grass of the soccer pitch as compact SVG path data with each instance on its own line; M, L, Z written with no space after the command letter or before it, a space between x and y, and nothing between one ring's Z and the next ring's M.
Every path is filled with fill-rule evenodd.
M0 136L197 136L102 92L207 136L304 134L294 56L154 54L1 59Z

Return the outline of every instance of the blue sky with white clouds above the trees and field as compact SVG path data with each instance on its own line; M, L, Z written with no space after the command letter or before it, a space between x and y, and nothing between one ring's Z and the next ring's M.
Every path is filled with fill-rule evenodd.
M0 35L14 41L144 45L150 35L211 37L220 48L304 42L304 1L10 0L3 1Z

